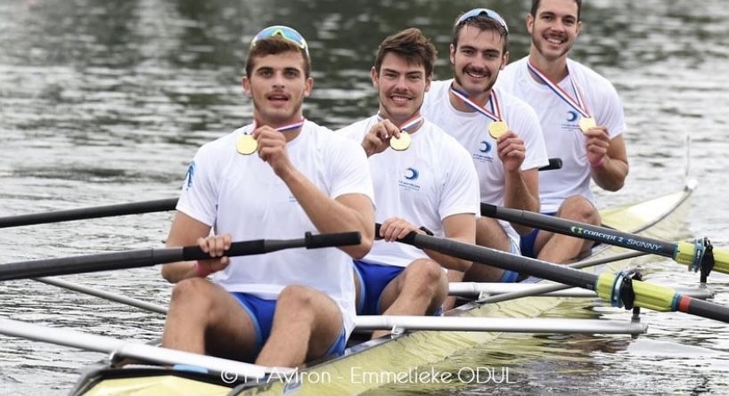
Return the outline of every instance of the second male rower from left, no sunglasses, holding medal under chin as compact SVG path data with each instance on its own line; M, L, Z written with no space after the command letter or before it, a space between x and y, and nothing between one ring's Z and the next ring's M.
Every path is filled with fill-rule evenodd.
M362 142L373 174L375 218L382 223L382 240L355 261L361 314L436 312L448 287L441 265L456 271L471 265L393 243L410 232L475 241L476 170L455 139L420 116L435 57L435 47L416 28L387 37L371 70L380 98L378 114L339 131Z

